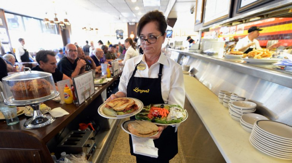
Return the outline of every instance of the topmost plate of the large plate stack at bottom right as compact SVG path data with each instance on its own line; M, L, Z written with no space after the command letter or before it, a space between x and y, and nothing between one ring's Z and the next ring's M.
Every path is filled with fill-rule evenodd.
M292 142L292 126L288 124L272 120L258 120L255 125L270 135Z

